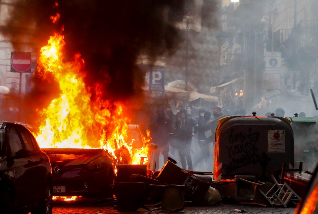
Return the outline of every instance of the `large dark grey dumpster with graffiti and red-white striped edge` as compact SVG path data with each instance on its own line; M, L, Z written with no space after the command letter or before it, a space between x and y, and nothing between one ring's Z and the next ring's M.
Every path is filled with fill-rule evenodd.
M294 162L290 121L281 117L230 116L221 118L215 134L213 179L254 175L268 181Z

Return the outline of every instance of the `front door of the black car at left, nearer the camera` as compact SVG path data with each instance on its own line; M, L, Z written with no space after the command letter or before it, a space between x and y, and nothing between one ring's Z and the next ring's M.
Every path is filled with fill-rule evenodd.
M33 203L32 191L36 183L31 179L32 159L25 149L15 125L8 125L9 160L13 161L16 168L15 200L21 207Z

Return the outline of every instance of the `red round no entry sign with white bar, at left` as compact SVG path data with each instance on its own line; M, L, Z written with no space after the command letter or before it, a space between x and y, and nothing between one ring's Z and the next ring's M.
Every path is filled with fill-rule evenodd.
M11 52L11 72L31 72L31 53Z

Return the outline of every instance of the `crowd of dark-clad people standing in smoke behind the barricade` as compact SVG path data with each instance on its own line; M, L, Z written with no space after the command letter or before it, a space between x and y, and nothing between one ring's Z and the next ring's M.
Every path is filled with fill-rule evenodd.
M234 114L222 113L220 107L205 108L194 111L192 106L180 108L176 114L169 105L158 108L153 115L149 130L158 148L154 151L155 170L160 170L168 157L177 161L183 169L194 171L213 170L213 147L218 120L225 116L246 116L245 109ZM275 112L275 113L274 113ZM285 111L277 108L264 116L285 117ZM212 116L213 113L213 116ZM248 114L248 116L252 116ZM304 112L299 117L306 117ZM161 159L162 158L162 159Z

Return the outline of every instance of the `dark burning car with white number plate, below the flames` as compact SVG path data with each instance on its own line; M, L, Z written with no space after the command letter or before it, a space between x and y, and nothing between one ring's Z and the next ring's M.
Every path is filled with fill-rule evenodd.
M111 197L113 159L103 149L45 148L51 159L54 196Z

